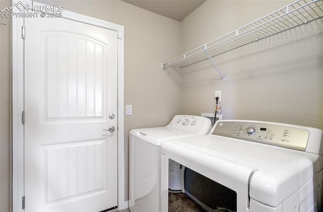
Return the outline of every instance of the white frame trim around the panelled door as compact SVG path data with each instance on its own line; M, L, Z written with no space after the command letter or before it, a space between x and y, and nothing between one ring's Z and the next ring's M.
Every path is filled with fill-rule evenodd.
M32 1L13 0L13 4L22 2L32 7ZM37 3L39 4L39 3ZM17 7L12 12L20 13ZM118 208L128 207L125 202L125 169L124 169L124 27L107 21L84 16L69 11L62 12L63 17L110 29L118 32ZM22 39L23 18L12 19L12 139L13 139L13 211L22 209L24 196L24 40ZM28 197L26 199L28 204Z

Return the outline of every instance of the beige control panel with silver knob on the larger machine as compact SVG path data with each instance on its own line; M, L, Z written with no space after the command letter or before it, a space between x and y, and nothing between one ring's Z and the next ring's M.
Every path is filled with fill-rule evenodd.
M305 151L309 131L279 123L218 121L213 135Z

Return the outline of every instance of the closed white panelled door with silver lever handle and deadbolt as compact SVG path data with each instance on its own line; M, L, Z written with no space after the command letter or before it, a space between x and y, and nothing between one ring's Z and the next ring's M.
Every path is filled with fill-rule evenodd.
M117 206L117 32L25 18L24 55L25 211Z

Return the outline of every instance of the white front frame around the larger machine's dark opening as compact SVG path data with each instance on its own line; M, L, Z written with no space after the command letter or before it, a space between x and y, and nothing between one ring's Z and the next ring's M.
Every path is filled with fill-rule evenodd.
M236 192L237 208L236 211L246 211L249 208L249 179L254 171L254 168L232 156L223 154L217 151L211 151L195 145L167 142L162 146L162 152L165 157L162 161L169 159L217 182ZM164 163L165 163L164 162ZM168 166L161 168L168 169ZM168 164L167 162L165 163ZM161 193L165 194L168 190L168 173L167 170L161 171ZM214 198L217 198L214 196ZM162 200L161 204L166 204ZM221 207L221 205L219 205ZM167 208L162 205L161 208Z

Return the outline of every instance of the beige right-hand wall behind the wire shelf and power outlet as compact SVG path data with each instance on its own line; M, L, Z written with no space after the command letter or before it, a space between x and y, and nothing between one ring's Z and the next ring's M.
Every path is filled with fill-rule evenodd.
M293 1L208 0L181 22L183 54ZM323 20L182 68L182 113L282 122L323 129Z

